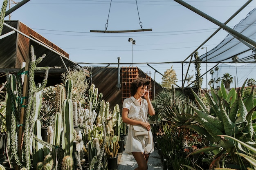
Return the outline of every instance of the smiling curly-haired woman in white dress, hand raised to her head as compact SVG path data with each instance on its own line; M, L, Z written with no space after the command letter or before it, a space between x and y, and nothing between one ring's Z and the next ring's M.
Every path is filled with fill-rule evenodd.
M149 88L151 88L151 84L148 79L135 79L130 86L132 97L124 99L123 103L122 119L129 126L125 152L132 152L138 163L138 167L135 170L147 170L149 154L154 151L153 135L148 123L148 114L155 115L155 110L149 98ZM136 136L133 125L141 125L146 128L148 135Z

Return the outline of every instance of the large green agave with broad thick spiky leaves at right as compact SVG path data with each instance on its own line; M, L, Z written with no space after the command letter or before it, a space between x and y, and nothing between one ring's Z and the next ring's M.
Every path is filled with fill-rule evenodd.
M246 82L246 81L245 81ZM219 150L216 153L216 159L222 153L231 153L234 151L234 142L231 139L226 139L220 135L228 135L243 142L252 141L254 137L254 128L252 125L252 115L255 110L255 103L253 100L253 91L249 97L243 99L243 87L235 91L231 89L229 93L225 90L222 82L221 88L216 93L211 89L211 95L206 92L208 104L211 109L208 109L198 95L193 92L198 107L191 107L195 110L193 118L198 124L191 124L182 126L195 130L210 141L210 146L196 150L194 153L207 152L212 150ZM191 115L189 115L191 116ZM220 151L220 148L222 150ZM234 154L233 154L234 155ZM233 161L237 163L236 157L232 157ZM214 164L214 163L212 163Z

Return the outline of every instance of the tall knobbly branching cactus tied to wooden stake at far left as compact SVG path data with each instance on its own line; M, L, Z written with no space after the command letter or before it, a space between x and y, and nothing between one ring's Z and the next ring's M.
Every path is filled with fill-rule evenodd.
M17 97L13 94L13 91L11 89L10 78L9 76L7 76L6 89L11 100L11 102L9 102L10 105L7 106L11 108L11 124L7 125L7 126L11 126L11 127L7 127L7 128L10 128L11 130L11 133L10 133L11 154L13 157L13 163L15 163L17 166L23 166L27 169L30 168L30 163L31 163L29 146L30 146L30 138L32 137L32 132L35 124L35 116L36 116L37 99L35 97L36 97L36 93L43 90L43 88L45 87L47 83L47 77L48 77L48 71L49 71L49 67L36 67L36 65L40 63L44 57L45 57L45 54L36 60L36 55L34 55L34 47L31 46L31 62L29 64L28 71L25 72L25 68L22 68L17 75L17 81L18 81ZM36 87L36 84L34 81L34 73L35 71L40 71L40 70L45 71L45 77L43 79L42 85L40 87ZM27 96L22 95L22 92L23 92L22 79L21 79L22 74L28 74ZM26 91L26 89L24 90ZM25 103L25 105L22 105L21 103L22 101L24 101L24 99L27 99L27 102ZM18 101L17 106L15 102L16 100ZM21 121L20 120L21 118L20 114L22 110L21 108L25 108L24 109L25 121L23 122L23 124L18 124L18 122ZM21 131L18 137L18 141L22 140L21 155L23 155L23 157L20 157L20 158L18 157L18 153L17 153L18 148L16 145L17 144L16 134L18 132L17 126L22 127L22 128L19 128L19 130ZM21 132L23 129L24 129L24 132L22 134Z

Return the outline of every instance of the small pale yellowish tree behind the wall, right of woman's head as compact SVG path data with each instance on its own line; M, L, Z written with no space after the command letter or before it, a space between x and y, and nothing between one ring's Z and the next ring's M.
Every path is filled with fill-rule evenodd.
M162 86L166 88L171 88L172 84L177 83L177 75L176 72L173 70L173 66L170 69L167 69L164 72L162 77Z

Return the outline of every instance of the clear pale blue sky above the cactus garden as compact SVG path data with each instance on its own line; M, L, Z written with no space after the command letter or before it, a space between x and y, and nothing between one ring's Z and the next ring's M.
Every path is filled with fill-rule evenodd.
M14 2L21 0L11 2L13 7ZM247 0L184 2L223 23ZM233 28L255 7L256 0L253 0L227 26ZM218 29L216 24L174 0L137 0L137 3L136 0L30 0L11 13L10 18L20 20L59 46L69 53L70 60L84 63L81 66L117 66L117 58L120 57L120 66L137 66L158 83L162 82L161 74L173 66L178 86L182 85L181 62ZM4 19L9 20L9 16ZM106 23L107 31L137 30L141 29L140 23L143 29L153 31L90 32L104 31ZM213 49L227 35L225 30L219 31L203 45L203 49L198 49L199 55ZM136 44L128 42L129 38L133 38ZM214 65L207 64L207 68ZM183 74L186 74L188 66L184 64ZM202 64L201 73L205 71L206 64ZM195 74L194 66L189 68L189 74ZM211 75L208 73L207 77L209 81ZM202 87L205 88L206 75L203 78Z

